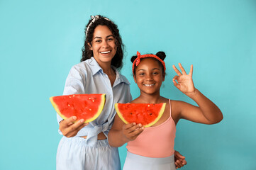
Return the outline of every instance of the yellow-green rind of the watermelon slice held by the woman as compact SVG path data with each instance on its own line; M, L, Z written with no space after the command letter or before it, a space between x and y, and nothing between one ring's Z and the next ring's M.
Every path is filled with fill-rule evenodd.
M69 95L67 95L67 96L69 96ZM67 119L67 117L66 117L65 115L62 115L62 113L60 112L60 108L57 106L57 104L55 103L55 101L53 101L53 98L54 98L54 97L55 97L55 96L50 97L50 102L52 103L53 108L55 108L55 111L57 112L58 115L60 115L60 117L61 117L62 119L64 119L64 120ZM92 122L93 120L95 120L96 118L98 118L99 115L101 114L103 108L104 108L105 102L106 102L106 94L101 94L101 103L100 103L100 105L98 106L98 111L96 112L96 114L94 115L94 117L85 120L84 123ZM74 123L75 123L75 122L77 122L77 120L74 121Z

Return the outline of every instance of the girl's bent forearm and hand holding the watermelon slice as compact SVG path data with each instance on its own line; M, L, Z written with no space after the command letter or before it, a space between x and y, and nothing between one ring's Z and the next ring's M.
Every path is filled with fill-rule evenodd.
M130 140L135 140L144 127L136 123L125 124L116 114L113 126L108 133L108 143L111 147L121 147Z

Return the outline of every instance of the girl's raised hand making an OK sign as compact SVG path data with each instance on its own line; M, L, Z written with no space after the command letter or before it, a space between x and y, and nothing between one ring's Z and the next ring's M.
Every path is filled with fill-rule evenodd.
M179 89L180 91L182 91L182 93L186 95L194 93L196 89L194 87L194 83L192 80L193 65L191 65L190 67L189 74L185 72L185 69L182 67L182 64L180 63L179 63L179 68L182 70L182 73L179 72L179 70L174 65L172 67L174 71L178 74L172 79L174 86L176 86L177 89Z

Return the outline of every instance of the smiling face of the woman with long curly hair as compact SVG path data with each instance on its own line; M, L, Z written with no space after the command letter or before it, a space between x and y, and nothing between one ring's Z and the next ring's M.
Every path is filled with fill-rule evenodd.
M111 64L111 60L116 55L116 39L107 26L97 26L94 29L90 50L100 66Z

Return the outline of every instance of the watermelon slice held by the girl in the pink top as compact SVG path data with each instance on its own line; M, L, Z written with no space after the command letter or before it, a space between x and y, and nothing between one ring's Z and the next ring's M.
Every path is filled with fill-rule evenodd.
M116 113L124 123L141 123L145 128L157 123L166 103L116 103Z

